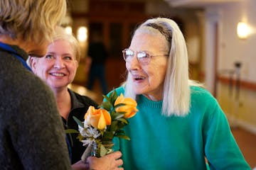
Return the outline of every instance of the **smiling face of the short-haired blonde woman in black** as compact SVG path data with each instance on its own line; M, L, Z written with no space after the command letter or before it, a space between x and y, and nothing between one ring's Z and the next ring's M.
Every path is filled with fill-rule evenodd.
M45 56L32 62L33 72L53 88L68 86L75 78L78 61L67 40L55 40L48 45Z

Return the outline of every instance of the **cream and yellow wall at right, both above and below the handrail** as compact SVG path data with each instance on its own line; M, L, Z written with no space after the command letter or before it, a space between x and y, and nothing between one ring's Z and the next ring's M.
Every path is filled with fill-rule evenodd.
M240 77L242 81L256 84L256 35L252 32L246 40L238 38L237 23L245 21L255 30L256 1L247 0L223 4L216 7L220 11L220 42L218 57L218 72L223 77L228 74L223 70L234 70L234 62L242 62ZM234 94L234 93L233 93ZM256 91L255 89L240 89L239 104L235 105L235 97L230 96L226 84L218 84L218 101L228 118L232 120L234 113L238 113L238 125L256 134Z

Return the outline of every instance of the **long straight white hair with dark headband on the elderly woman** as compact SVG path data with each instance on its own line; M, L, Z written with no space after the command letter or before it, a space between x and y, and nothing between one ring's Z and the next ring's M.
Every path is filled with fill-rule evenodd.
M191 102L190 86L199 86L188 79L188 52L186 42L178 25L169 18L151 18L142 23L135 33L151 33L164 35L169 52L164 79L162 115L184 116L188 114ZM130 74L125 84L125 96L136 98L132 89Z

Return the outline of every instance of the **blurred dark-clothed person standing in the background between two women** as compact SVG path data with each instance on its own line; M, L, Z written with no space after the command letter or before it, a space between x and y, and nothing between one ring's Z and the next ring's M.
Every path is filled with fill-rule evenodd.
M97 31L92 32L88 52L87 62L90 63L90 71L88 76L87 88L92 90L95 80L100 81L102 94L107 94L107 81L105 77L105 62L107 59L107 50L102 42L100 33Z

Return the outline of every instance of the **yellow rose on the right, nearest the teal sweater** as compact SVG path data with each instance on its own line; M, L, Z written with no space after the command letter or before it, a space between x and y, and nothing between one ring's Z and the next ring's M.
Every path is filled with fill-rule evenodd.
M114 102L114 106L117 106L119 103L124 103L124 106L119 106L115 108L115 111L117 112L125 112L124 118L132 118L134 116L138 109L137 109L137 102L134 101L132 98L124 98L124 96L121 94L117 97L117 100Z

